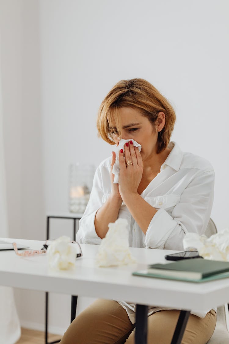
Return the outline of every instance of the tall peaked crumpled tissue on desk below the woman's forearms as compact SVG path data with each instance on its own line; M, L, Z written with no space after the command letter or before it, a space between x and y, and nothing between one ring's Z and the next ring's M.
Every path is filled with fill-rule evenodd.
M127 220L123 218L108 224L109 229L95 259L97 266L119 266L136 262L129 250L127 224Z

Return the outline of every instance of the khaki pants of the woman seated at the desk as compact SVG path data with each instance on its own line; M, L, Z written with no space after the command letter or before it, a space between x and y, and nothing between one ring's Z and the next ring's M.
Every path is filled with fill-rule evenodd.
M148 317L148 343L170 344L180 311L159 311ZM216 325L216 312L205 318L190 314L182 344L205 344ZM116 301L98 299L71 323L61 344L134 344L134 325Z

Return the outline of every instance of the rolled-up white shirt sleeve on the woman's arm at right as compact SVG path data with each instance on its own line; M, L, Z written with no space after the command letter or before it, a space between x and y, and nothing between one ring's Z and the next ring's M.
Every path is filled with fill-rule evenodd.
M214 171L200 171L181 194L171 215L159 209L145 236L146 248L182 250L186 233L204 234L214 198Z

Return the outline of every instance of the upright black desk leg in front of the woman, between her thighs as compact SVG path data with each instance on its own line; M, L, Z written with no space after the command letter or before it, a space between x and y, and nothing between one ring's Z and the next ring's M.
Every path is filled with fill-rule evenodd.
M135 344L147 344L148 306L137 304Z

